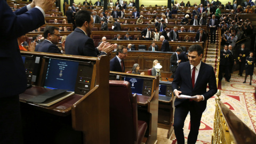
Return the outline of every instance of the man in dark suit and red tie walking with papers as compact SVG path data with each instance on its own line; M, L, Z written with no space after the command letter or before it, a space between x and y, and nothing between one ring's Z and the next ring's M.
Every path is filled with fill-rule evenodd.
M191 45L188 49L188 60L176 69L172 89L176 95L174 101L174 133L178 143L185 143L183 126L190 113L190 132L188 143L196 143L203 111L207 100L217 92L216 77L211 66L201 62L203 48ZM209 91L206 91L209 84ZM193 99L180 98L179 95L195 96Z

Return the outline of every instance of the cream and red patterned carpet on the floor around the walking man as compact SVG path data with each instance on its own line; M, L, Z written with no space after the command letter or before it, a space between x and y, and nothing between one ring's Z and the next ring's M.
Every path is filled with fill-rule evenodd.
M254 69L252 85L249 85L250 76L247 77L246 83L243 84L244 76L244 74L243 76L239 76L238 71L235 71L231 75L230 83L226 82L225 78L223 78L222 81L219 82L218 87L218 89L221 90L220 99L238 118L249 126L251 130L256 132L256 69ZM207 101L207 107L201 119L197 143L211 143L211 135L213 133L213 118L215 113L215 97L217 96L214 95L214 97ZM184 127L185 142L187 141L190 129L189 119L190 115L188 114ZM159 139L157 143L163 143L161 141L162 140ZM171 139L165 141L164 143L176 143L174 133L172 134Z

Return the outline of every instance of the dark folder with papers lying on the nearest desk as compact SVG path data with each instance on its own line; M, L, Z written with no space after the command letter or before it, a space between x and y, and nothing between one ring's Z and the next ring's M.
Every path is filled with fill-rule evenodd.
M57 103L70 95L74 94L74 92L69 92L67 90L54 89L49 92L45 92L43 94L37 95L34 98L27 100L27 102L33 102L37 105L41 106L51 106L54 103Z

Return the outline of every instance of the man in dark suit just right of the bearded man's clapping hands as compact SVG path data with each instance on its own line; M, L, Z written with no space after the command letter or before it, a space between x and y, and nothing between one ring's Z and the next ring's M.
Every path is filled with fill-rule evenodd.
M127 48L123 45L118 45L116 57L110 60L110 71L123 72L125 71L124 59L127 57Z

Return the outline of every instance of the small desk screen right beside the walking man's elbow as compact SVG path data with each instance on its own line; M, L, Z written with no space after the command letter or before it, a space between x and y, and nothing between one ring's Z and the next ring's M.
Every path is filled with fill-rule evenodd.
M171 82L159 82L159 95L172 97L172 83Z

